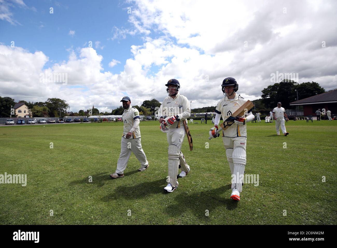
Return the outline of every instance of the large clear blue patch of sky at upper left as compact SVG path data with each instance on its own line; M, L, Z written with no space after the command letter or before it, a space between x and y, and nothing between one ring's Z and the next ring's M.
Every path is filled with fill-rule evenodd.
M114 27L131 29L128 22L128 7L132 5L123 1L25 1L27 8L13 8L13 17L21 24L11 25L0 22L1 42L10 45L11 40L30 52L43 51L50 60L61 62L66 60L67 49L88 46L92 41L99 41L99 53L104 57L104 69L113 73L123 71L124 64L109 68L113 59L125 61L131 57L131 45L142 45L140 35L111 40ZM36 11L32 10L34 7ZM50 13L50 7L54 13ZM69 31L74 30L74 35ZM126 34L127 36L131 36ZM4 39L6 37L6 39ZM85 45L86 44L86 45ZM85 46L84 46L85 45ZM45 64L45 68L53 62Z

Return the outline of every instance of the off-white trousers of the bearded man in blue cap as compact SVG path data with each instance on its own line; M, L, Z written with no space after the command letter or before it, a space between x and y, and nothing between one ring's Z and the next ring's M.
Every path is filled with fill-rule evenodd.
M146 167L149 162L146 160L145 153L142 149L141 138L136 139L126 139L122 137L121 141L121 153L117 162L116 172L118 174L123 174L126 169L127 162L129 161L131 151L136 156L136 158L141 162L142 167Z

